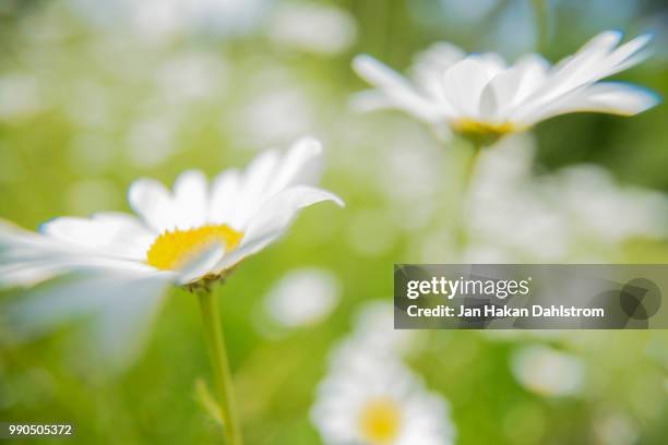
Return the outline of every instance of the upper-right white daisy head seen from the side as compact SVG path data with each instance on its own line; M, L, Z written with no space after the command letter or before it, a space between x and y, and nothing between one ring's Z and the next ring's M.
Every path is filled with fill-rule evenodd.
M402 109L484 145L558 115L632 116L655 106L658 96L635 85L598 81L642 61L651 36L618 46L621 38L619 32L604 32L553 67L536 53L509 65L494 53L464 55L441 44L419 58L410 81L360 55L353 67L377 89L362 93L358 104Z

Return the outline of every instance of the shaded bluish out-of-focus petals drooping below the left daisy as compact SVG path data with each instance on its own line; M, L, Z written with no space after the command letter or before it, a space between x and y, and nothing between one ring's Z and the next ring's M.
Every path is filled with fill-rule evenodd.
M7 328L13 339L27 340L93 316L93 332L84 340L104 361L100 370L119 371L141 351L168 286L166 276L155 274L74 278L11 302L4 311Z

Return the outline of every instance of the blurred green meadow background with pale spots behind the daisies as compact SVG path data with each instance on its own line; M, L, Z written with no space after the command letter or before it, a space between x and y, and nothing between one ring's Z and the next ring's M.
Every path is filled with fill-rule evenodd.
M403 69L449 40L556 61L608 28L655 33L654 56L619 79L666 97L659 0L4 0L0 216L35 229L128 211L138 177L212 177L322 139L323 184L347 207L306 211L217 290L248 444L317 444L309 409L326 357L366 301L390 302L393 263L668 262L665 106L561 117L491 148L461 252L456 143L399 113L350 110L366 87L351 57ZM196 302L172 293L120 373L87 353L86 321L32 341L0 326L0 421L71 422L77 444L219 443L195 390L210 376ZM301 313L312 298L324 303ZM451 404L460 444L668 441L665 332L424 334L407 362Z

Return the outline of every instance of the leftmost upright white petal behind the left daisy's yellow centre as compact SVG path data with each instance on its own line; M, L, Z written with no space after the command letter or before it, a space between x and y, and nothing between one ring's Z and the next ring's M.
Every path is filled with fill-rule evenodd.
M169 191L153 179L139 179L130 185L129 201L132 209L156 232L175 228L178 209Z

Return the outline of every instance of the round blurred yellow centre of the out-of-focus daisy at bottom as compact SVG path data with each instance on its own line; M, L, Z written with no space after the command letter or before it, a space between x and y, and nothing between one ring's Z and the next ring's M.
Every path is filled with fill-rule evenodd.
M387 444L398 436L402 413L390 398L372 400L361 411L359 426L366 441Z

